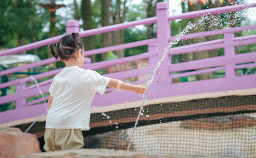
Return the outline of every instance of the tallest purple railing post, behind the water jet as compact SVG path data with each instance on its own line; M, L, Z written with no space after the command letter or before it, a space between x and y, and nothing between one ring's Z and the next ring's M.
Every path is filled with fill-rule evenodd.
M168 46L168 38L170 37L169 5L167 3L157 3L157 44L158 44L158 60L163 57L164 48ZM158 84L164 85L170 83L169 78L169 60L168 54L162 61L158 69Z

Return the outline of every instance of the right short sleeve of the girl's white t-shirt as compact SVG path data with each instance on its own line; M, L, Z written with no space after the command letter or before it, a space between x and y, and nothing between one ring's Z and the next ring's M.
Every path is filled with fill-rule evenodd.
M96 71L91 71L91 72L92 72L91 89L95 90L101 95L104 94L106 90L106 85L109 84L111 78L102 76Z

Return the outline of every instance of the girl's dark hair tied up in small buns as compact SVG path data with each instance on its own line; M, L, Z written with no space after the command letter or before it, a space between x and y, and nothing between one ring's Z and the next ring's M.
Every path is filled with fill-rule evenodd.
M57 46L58 55L54 51L54 46ZM59 57L62 62L70 58L76 58L74 54L77 50L81 49L81 52L84 51L84 46L78 33L62 37L58 44L51 43L48 45L48 48L51 50L53 57L56 59Z

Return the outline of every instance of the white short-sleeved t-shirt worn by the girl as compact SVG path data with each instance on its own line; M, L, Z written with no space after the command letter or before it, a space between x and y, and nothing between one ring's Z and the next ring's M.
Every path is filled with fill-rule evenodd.
M89 130L93 97L96 92L104 94L110 79L78 66L65 67L55 75L49 89L53 101L46 128Z

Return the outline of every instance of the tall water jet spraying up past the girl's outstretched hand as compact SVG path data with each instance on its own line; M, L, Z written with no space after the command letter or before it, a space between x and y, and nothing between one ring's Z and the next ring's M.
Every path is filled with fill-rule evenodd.
M204 15L203 18L201 18L198 22L203 22L204 20L207 20L207 19L208 19L208 16ZM186 25L186 28L185 28L182 32L180 32L180 33L176 36L176 38L175 38L173 41L169 42L169 44L168 44L167 47L164 48L163 57L159 60L159 62L158 62L157 65L156 65L156 68L153 70L153 75L152 75L152 77L151 77L151 80L148 81L146 93L145 93L145 95L143 94L143 97L144 97L144 98L143 98L142 106L141 106L141 108L140 108L139 115L137 116L137 119L136 119L136 122L135 122L135 125L134 125L134 128L133 128L133 134L132 134L132 137L131 137L131 139L130 139L129 145L128 145L128 147L127 147L127 151L130 150L130 147L131 147L131 144L132 144L132 140L133 140L133 136L134 136L134 133L135 133L135 129L136 129L136 126L137 126L137 124L138 124L138 121L139 121L139 118L140 118L142 109L143 109L143 107L144 107L144 105L145 105L147 93L148 93L148 91L150 90L150 87L151 87L151 84L152 84L152 82L153 82L153 80L154 80L154 78L155 78L157 69L160 67L162 61L165 59L165 56L166 56L166 54L167 54L167 52L168 52L168 49L169 49L170 47L172 47L173 45L177 44L177 43L180 41L181 37L182 37L183 35L185 35L189 30L192 30L192 29L194 29L194 28L197 28L197 26L198 26L197 23L191 23L191 22L189 21L188 24Z

